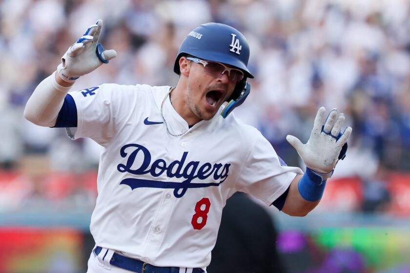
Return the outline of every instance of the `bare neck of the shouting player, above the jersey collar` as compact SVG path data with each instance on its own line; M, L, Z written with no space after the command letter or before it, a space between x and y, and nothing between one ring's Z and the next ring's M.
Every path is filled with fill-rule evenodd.
M178 84L177 87L171 91L171 93L169 94L169 96L171 98L172 106L174 107L175 111L177 111L177 113L182 118L184 118L189 126L193 126L202 120L201 118L197 117L195 113L193 113L189 108L188 102L186 101L188 98L187 96L185 96L185 94L187 94L187 90L185 88Z

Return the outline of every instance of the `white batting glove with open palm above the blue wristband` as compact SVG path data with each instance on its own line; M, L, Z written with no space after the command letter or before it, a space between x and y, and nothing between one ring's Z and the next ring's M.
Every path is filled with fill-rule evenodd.
M339 114L337 109L333 109L326 118L325 112L325 107L319 108L312 133L306 144L297 137L290 135L286 137L306 166L322 176L323 180L333 174L342 147L347 143L352 130L351 127L347 127L344 133L340 134L345 114Z

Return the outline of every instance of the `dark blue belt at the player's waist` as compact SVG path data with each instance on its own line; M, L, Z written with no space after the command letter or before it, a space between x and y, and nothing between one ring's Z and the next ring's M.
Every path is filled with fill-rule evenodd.
M101 247L96 247L94 249L94 253L96 255L100 254L102 248ZM105 256L102 258L104 260ZM118 253L115 253L112 255L110 264L125 270L129 270L132 272L137 272L137 273L179 273L180 268L179 267L159 267L159 266L153 266L147 263L144 263L143 261L137 260L137 259L132 259L125 257L123 255L120 255ZM201 268L194 268L192 270L192 273L203 273Z

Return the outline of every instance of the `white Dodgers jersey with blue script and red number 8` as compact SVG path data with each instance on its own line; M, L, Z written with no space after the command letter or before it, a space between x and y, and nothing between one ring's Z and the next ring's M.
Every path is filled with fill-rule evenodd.
M104 147L90 227L98 246L155 266L205 269L229 196L242 191L270 205L303 173L281 164L261 133L233 114L189 129L167 98L170 132L186 131L171 136L160 112L169 89L103 84L71 92L78 127L67 132Z

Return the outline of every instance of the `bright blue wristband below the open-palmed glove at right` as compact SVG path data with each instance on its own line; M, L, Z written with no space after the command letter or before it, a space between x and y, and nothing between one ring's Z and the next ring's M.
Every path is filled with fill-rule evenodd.
M298 190L305 200L313 202L322 198L325 186L326 180L322 181L322 176L315 174L306 167L306 173L299 180Z

